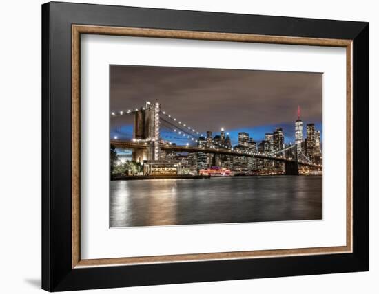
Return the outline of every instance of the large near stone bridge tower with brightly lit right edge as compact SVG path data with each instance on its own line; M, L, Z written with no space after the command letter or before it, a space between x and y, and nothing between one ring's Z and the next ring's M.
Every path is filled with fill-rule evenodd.
M159 103L146 102L145 107L134 112L133 138L147 143L147 161L159 160ZM138 150L136 151L138 152Z

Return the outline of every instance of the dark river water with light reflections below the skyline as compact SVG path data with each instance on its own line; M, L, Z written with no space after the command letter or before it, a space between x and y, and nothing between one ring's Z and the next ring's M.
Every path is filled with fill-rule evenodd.
M110 227L322 219L322 176L110 182Z

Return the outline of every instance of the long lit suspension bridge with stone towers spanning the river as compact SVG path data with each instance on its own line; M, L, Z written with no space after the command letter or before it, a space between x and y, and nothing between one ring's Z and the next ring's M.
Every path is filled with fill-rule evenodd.
M284 174L298 174L299 168L320 170L322 165L312 162L303 153L298 153L296 144L289 144L285 148L272 150L271 152L258 152L256 149L233 148L230 144L221 142L209 142L205 136L195 128L188 126L178 117L174 117L161 109L158 102L146 102L145 106L126 111L112 112L112 117L132 115L134 120L133 137L123 140L114 137L110 144L118 149L132 150L133 159L137 162L148 164L164 164L162 152L191 152L201 155L227 156L229 158L262 159L274 164L281 163ZM161 138L161 128L165 127L177 137L187 139L185 145L177 145Z

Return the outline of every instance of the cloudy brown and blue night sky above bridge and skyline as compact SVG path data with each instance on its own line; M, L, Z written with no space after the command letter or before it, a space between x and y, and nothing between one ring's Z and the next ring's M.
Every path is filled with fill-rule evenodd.
M279 126L285 142L294 142L297 107L305 126L312 122L321 131L322 74L240 69L110 66L110 111L136 109L146 101L159 102L161 110L195 128L249 133L256 142ZM110 117L110 135L132 139L132 115ZM163 128L161 137L185 144L176 133Z

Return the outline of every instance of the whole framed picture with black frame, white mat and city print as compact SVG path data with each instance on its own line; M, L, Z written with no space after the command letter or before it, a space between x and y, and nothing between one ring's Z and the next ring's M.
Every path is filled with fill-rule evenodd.
M369 270L369 24L42 5L47 291Z

